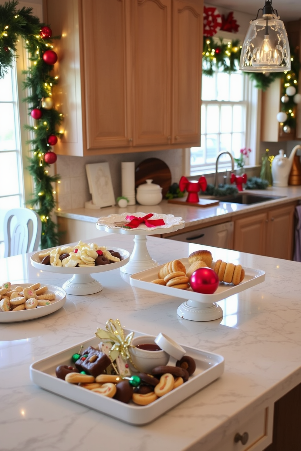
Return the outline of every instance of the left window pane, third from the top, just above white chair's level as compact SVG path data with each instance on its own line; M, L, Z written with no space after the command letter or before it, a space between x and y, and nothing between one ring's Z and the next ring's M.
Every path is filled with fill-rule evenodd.
M0 177L1 196L10 196L19 193L19 179L14 177L14 183L12 183L12 174L19 173L17 152L1 152L0 167L9 168L9 170L2 171Z

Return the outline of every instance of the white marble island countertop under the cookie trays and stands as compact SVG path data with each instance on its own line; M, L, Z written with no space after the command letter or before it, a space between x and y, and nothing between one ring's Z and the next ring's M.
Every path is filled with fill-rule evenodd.
M91 239L131 251L133 238ZM228 430L301 382L301 263L210 248L214 259L262 269L265 281L218 304L223 318L194 322L177 316L181 299L135 289L119 269L97 274L103 290L67 295L60 310L28 322L1 323L0 443L5 451L87 449L211 450ZM200 249L148 237L160 264ZM0 260L2 283L40 281L61 286L69 277L40 271L29 256ZM94 276L94 275L93 275ZM222 376L146 426L131 426L34 385L33 362L94 336L109 319L146 334L164 332L187 346L221 354Z

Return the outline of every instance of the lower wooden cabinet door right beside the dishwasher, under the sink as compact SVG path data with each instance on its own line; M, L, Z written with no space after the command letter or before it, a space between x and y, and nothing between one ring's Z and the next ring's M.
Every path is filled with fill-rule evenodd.
M266 213L237 219L234 225L234 250L264 255Z

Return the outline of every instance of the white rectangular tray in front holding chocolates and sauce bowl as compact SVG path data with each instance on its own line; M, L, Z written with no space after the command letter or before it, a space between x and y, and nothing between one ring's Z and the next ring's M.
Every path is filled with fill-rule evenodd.
M144 334L135 332L135 336L140 335ZM83 345L84 349L90 345L97 348L98 344L99 338L94 337L84 343L79 343L65 351L31 364L30 377L32 382L56 395L78 402L125 423L142 425L152 422L189 396L194 395L197 391L220 377L224 371L224 359L221 355L182 345L187 355L190 355L196 362L194 374L180 387L145 406L136 405L132 402L125 404L93 393L77 385L69 384L56 377L56 367L58 365L72 364L71 356L79 351L81 345ZM171 358L169 364L175 365L175 360Z

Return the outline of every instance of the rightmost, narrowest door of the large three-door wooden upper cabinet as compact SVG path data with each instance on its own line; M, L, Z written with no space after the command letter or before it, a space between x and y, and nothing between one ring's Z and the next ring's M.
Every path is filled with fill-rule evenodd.
M202 2L173 2L172 143L200 142Z

